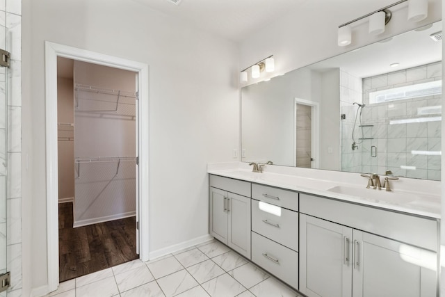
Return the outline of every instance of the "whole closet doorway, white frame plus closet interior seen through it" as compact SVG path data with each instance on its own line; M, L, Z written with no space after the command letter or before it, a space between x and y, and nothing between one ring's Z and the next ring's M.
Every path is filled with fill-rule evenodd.
M58 102L58 93L64 89L60 86L63 79L58 79L58 66L62 63L72 63L72 82L65 88L71 103L66 98L65 102ZM115 77L118 72L129 77ZM111 254L129 249L133 256L122 256L120 261L131 257L149 259L148 65L45 42L45 73L48 291L54 291L59 281L65 280L65 276L59 279L59 227L65 227L65 223L72 223L74 229L94 226L83 231L87 239L106 234L104 224L111 224L110 233L114 231L107 239L108 255L98 255L95 250L100 236L93 240L92 248L86 247L88 240L74 240L82 243L74 249L83 259L71 262L86 263L86 259L97 257L113 266L118 262L111 259ZM60 73L59 77L63 75L66 76ZM65 83L67 80L70 79L65 77ZM104 85L104 81L111 81L112 86ZM132 87L117 86L123 81ZM73 113L63 109L63 105L72 106ZM65 204L65 208L72 209L72 215L67 214L72 220L59 220L59 202L72 202L72 207ZM124 220L129 220L130 227L125 227ZM116 232L118 229L122 232ZM60 232L60 239L63 237ZM113 243L118 245L110 248ZM95 255L87 255L83 250L94 250ZM65 255L65 250L61 249L60 255Z

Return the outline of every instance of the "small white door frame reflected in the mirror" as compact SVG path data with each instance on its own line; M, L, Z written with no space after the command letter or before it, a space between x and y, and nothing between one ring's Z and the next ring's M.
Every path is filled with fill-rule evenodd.
M318 104L318 102L301 98L294 98L293 101L293 166L297 166L297 104L308 105L312 107L311 156L312 158L314 158L314 161L311 162L311 168L318 168L320 162L320 139L318 138L318 136L320 135L320 104Z

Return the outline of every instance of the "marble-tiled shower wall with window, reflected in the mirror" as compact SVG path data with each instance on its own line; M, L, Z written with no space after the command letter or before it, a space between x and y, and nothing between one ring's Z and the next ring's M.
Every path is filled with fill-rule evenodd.
M441 122L414 122L389 125L391 120L419 118L418 109L441 106L442 95L369 104L369 93L387 88L424 83L442 79L442 62L414 67L398 72L363 79L363 124L365 140L362 152L361 172L385 173L421 179L440 180L440 157L412 154L412 151L441 150ZM437 116L437 115L435 115ZM360 136L361 137L361 136ZM375 146L376 156L371 156ZM414 169L405 169L410 166Z

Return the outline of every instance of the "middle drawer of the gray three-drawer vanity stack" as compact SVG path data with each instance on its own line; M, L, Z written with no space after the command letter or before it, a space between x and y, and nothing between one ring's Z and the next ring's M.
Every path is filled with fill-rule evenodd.
M298 212L260 203L264 202L252 200L252 231L298 251ZM268 206L281 211L280 216L270 214Z

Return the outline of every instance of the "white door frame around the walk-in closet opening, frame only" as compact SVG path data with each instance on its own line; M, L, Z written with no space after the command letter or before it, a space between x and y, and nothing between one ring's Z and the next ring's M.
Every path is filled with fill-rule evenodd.
M47 157L47 257L48 257L48 289L54 291L59 284L58 278L58 159L57 159L57 57L115 67L138 73L138 153L137 166L140 182L137 183L139 193L139 239L140 254L143 261L149 259L149 67L145 63L116 58L105 54L77 49L66 45L58 45L45 41L45 90L46 90L46 157Z

